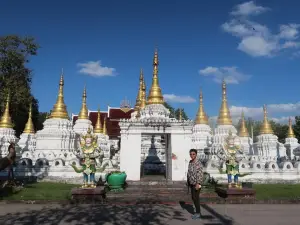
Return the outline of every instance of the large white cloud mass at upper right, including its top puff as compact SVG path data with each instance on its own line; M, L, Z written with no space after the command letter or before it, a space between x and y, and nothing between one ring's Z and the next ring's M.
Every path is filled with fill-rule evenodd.
M300 47L299 24L282 24L277 33L262 24L249 19L269 11L269 8L258 6L253 1L234 7L230 14L233 18L222 24L221 28L240 39L237 49L253 57L271 57L283 50Z

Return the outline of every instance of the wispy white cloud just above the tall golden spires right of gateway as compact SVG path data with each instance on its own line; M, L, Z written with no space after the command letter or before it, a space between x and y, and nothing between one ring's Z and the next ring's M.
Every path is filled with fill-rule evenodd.
M208 66L202 70L199 70L199 74L202 76L210 76L217 83L221 83L223 79L228 84L239 84L241 81L248 80L249 75L239 72L237 67L212 67Z

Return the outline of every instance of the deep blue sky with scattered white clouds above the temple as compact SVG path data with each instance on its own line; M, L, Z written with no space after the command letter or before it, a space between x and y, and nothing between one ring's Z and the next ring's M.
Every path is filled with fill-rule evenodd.
M81 106L119 106L136 99L142 67L151 85L154 48L159 50L163 94L191 118L199 89L214 118L220 80L228 81L233 117L286 122L299 114L300 15L298 1L2 1L0 33L32 35L41 45L32 58L32 90L40 111L56 101L61 68L69 113ZM80 72L81 71L81 72ZM85 72L85 73L83 73Z

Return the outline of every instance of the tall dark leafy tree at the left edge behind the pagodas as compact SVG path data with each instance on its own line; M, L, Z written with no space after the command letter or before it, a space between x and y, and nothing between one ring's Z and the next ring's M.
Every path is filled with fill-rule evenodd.
M38 101L31 94L32 71L27 68L30 56L37 54L39 46L32 37L0 36L0 111L5 108L8 93L11 96L10 115L19 136L28 120L32 103L32 120L38 123Z

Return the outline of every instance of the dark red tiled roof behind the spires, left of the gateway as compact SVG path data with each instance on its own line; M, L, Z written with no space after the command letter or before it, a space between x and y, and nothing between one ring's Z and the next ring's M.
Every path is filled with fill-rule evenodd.
M130 119L131 113L133 112L133 109L130 109L128 112L122 111L120 108L109 108L109 113L107 112L100 112L100 120L101 124L103 126L104 118L107 117L106 120L106 128L107 128L107 134L109 137L118 137L120 136L120 127L119 127L119 120L120 119ZM108 117L109 115L109 117ZM93 126L95 126L98 118L98 112L90 112L89 118L92 121ZM76 120L78 119L78 116L73 116L73 124L75 124Z

